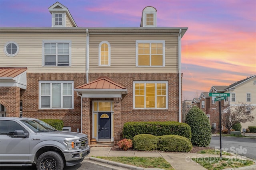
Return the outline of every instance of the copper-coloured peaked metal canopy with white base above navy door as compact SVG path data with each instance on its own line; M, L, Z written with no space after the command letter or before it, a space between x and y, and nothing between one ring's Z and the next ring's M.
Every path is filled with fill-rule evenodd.
M83 98L122 98L122 94L127 94L125 87L106 76L101 76L92 82L78 86L74 91L82 94Z

